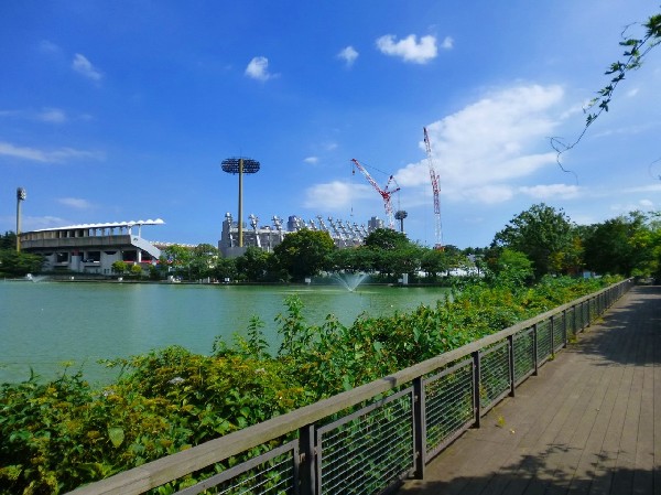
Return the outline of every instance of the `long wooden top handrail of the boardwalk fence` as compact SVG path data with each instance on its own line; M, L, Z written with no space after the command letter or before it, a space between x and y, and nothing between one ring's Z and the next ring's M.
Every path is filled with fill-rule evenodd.
M615 300L625 293L632 284L632 279L625 280L618 284L603 289L598 292L585 295L570 303L563 304L545 313L539 314L532 319L519 322L498 333L485 336L478 341L472 342L457 349L449 351L438 356L426 359L422 363L413 365L409 368L393 373L378 380L356 387L351 390L338 394L330 398L321 400L310 406L302 407L295 411L282 415L261 423L245 428L240 431L229 433L202 443L192 449L177 452L172 455L152 461L144 465L128 470L116 474L106 480L78 487L71 492L75 495L109 495L109 494L141 494L151 488L155 488L171 481L177 480L189 473L208 467L214 463L227 460L234 455L246 452L252 448L264 444L271 440L282 438L295 431L303 431L311 426L319 423L322 420L332 417L333 415L346 410L348 408L361 405L372 400L375 397L386 394L400 386L412 384L421 379L432 372L438 370L448 364L456 363L462 358L477 356L479 359L480 351L496 343L503 341L512 341L512 336L528 329L537 329L537 325L546 321L553 322L553 316L566 314L567 310L583 309L584 303L588 303L587 324L594 319L589 315L590 301L597 301L597 308L604 312ZM602 295L610 295L611 298L602 298ZM607 299L599 303L602 299ZM564 324L564 323L563 323ZM583 325L585 326L585 325ZM553 323L551 323L551 340L553 341ZM583 330L583 329L581 329ZM535 338L537 343L537 338ZM565 332L566 344L566 332ZM551 342L551 351L554 352L553 342ZM537 348L535 348L537 353ZM537 356L535 356L537 369ZM478 365L479 375L479 365ZM476 386L477 388L477 386ZM513 390L513 385L512 385ZM479 422L480 408L476 406L477 418ZM423 455L424 461L424 455ZM416 472L422 470L418 469ZM311 488L307 493L314 493Z

